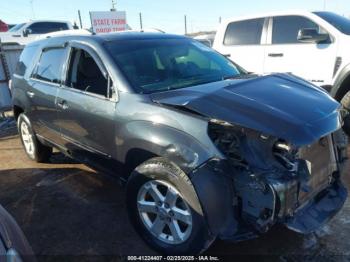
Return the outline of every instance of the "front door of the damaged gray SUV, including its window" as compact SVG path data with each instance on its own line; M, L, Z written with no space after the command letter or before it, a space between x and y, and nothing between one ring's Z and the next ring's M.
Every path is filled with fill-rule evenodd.
M112 83L91 48L71 44L69 53L66 80L56 101L64 146L82 161L103 162L116 153Z

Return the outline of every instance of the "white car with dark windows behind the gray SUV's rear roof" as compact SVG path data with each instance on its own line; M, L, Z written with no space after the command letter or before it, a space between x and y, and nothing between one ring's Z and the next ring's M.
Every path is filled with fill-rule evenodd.
M26 45L40 35L72 29L73 25L68 21L37 20L18 24L8 32L0 33L0 39L3 43Z

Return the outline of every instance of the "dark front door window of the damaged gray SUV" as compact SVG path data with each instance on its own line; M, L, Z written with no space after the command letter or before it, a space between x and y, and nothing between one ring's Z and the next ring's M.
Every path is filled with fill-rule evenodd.
M94 58L82 49L72 49L66 85L105 97L108 94L108 80Z

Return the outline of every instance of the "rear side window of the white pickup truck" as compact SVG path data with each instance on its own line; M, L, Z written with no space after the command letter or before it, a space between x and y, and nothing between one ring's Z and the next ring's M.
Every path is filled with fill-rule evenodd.
M230 23L224 45L259 45L265 18Z

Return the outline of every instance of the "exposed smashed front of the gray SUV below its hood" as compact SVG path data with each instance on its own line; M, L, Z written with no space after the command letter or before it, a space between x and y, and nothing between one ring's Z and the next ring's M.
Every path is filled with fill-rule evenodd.
M209 161L193 179L212 172L223 175L230 184L226 191L232 191L233 215L225 214L217 222L221 228L219 225L216 233L221 238L245 240L276 223L310 233L343 206L347 191L340 173L347 141L341 131L304 146L218 120L209 123L208 133L226 159Z

